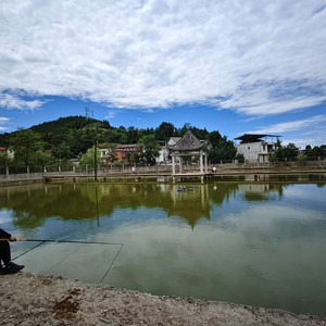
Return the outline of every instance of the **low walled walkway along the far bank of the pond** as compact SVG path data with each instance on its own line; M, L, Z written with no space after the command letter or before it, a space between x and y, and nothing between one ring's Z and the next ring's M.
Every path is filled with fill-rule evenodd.
M156 183L204 183L206 180L238 180L266 181L268 176L277 175L326 175L326 161L278 164L221 164L215 173L186 168L183 173L172 173L171 166L141 167L137 171L126 170L99 170L87 172L46 172L21 173L0 175L0 185L16 185L26 183L53 183L53 181L156 181Z

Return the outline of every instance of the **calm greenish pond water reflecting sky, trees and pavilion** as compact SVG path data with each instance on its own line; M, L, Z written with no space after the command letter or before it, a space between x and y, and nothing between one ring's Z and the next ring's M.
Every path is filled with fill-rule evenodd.
M178 186L4 187L0 225L112 243L13 243L26 272L326 315L325 181Z

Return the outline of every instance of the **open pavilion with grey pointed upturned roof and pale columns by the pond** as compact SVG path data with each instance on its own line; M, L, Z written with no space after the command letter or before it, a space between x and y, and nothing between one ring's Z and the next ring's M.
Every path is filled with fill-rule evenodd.
M167 149L172 152L172 175L173 180L176 176L193 177L200 176L201 180L204 178L204 174L208 174L208 145L205 141L198 140L192 133L188 129L184 137L175 145L167 146ZM185 173L183 168L183 156L199 156L200 173ZM179 162L179 171L176 173L176 162Z

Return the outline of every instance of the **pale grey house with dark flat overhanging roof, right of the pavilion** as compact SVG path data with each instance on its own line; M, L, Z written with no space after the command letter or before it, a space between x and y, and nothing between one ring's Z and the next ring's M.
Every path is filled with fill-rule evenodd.
M279 137L281 136L244 134L235 139L240 141L237 145L237 150L239 154L243 155L247 162L268 163Z

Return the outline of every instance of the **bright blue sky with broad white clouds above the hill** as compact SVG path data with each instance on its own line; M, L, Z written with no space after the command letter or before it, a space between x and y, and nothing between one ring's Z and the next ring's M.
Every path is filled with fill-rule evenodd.
M1 0L0 133L63 116L326 143L325 0Z

